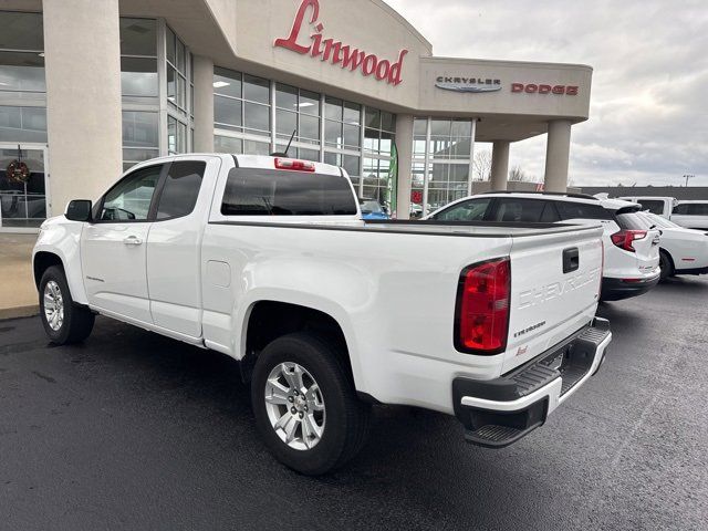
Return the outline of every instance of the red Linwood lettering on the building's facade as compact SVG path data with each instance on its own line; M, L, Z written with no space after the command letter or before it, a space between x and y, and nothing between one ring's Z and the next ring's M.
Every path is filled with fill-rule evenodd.
M377 81L385 81L394 86L403 82L403 60L408 50L398 52L396 61L381 59L335 39L324 39L322 33L324 24L319 22L319 19L320 1L302 0L290 35L287 39L275 39L273 46L285 48L301 55L310 55L315 60L330 62L352 72L358 70L364 76L373 75ZM309 38L305 37L306 33L310 33Z

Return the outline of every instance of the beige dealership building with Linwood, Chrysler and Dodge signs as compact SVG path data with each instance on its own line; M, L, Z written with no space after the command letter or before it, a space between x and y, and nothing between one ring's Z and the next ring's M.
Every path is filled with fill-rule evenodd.
M0 230L37 230L147 158L343 166L398 218L468 195L491 143L546 135L563 191L592 69L449 59L381 0L0 0Z

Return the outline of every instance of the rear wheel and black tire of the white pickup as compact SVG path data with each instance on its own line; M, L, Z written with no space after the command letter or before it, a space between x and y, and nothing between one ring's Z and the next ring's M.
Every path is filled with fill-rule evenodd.
M294 382L309 389L305 396L295 396L298 385L288 379L298 378L296 366L302 371ZM274 378L287 373L290 376ZM280 387L270 384L274 379ZM271 403L267 403L267 394ZM356 397L336 350L316 335L289 334L260 353L251 379L251 403L268 449L283 465L308 476L344 465L361 450L368 435L371 406ZM277 420L283 426L277 428ZM316 429L321 429L319 440Z

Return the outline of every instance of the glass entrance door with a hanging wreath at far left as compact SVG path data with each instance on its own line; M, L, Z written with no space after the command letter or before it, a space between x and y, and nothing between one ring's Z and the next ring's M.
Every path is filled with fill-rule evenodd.
M46 219L46 148L0 144L0 229L37 229Z

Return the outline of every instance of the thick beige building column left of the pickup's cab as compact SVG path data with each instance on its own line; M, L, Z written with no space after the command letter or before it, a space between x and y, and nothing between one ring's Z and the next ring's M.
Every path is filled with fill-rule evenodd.
M123 168L118 0L43 0L50 211Z

